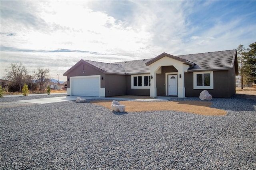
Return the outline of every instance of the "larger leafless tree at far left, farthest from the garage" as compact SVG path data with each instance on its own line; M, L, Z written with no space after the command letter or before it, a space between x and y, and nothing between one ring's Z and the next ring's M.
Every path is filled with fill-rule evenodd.
M24 79L28 75L27 69L20 62L19 64L11 63L10 66L5 69L5 71L7 72L5 79L12 82L12 91L21 92Z

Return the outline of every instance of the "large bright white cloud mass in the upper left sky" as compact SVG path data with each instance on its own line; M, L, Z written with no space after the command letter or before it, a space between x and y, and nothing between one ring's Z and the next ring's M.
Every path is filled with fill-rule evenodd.
M4 32L15 32L17 36L3 36L2 45L33 50L73 49L97 52L137 51L145 47L150 34L125 27L104 12L94 12L81 4L70 2L39 2L32 14L47 23L44 28L16 30L3 28ZM46 8L48 7L48 8ZM46 10L44 10L46 9ZM34 13L33 13L34 12ZM7 25L8 20L6 20ZM45 30L48 30L45 32ZM12 39L12 40L10 40ZM22 39L22 42L18 40ZM96 40L96 41L95 41ZM100 42L100 44L99 44ZM100 46L99 46L100 45Z

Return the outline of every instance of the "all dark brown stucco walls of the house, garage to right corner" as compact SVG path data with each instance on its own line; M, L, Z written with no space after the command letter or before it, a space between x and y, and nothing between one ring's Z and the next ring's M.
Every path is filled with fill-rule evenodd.
M178 66L178 64L177 64ZM155 69L158 70L158 69ZM181 73L181 69L179 70ZM84 72L84 73L83 73ZM162 66L159 72L154 72L153 79L156 85L156 95L166 96L166 73L178 72L174 66ZM158 74L160 73L160 74ZM100 75L103 80L100 79L100 87L105 88L106 96L118 96L118 95L141 95L150 96L150 89L132 89L131 88L131 75L114 75L114 74L104 74L99 70L85 64L80 63L76 68L67 74L68 80L71 76L92 76ZM193 72L183 72L182 77L184 77L184 89L186 97L199 97L200 92L203 89L193 89ZM235 68L223 71L214 71L214 89L206 89L215 98L229 98L236 92L235 87ZM151 86L154 83L151 80ZM179 82L178 84L183 84ZM67 82L67 90L70 90L70 81ZM180 87L182 88L182 87ZM103 89L104 90L104 89Z

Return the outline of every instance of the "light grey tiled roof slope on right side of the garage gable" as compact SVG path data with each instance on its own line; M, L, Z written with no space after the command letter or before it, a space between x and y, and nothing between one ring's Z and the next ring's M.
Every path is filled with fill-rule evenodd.
M120 64L111 64L111 63L96 62L96 61L90 61L90 60L84 60L84 61L89 63L91 66L101 70L102 72L112 73L112 74L126 73L124 68Z

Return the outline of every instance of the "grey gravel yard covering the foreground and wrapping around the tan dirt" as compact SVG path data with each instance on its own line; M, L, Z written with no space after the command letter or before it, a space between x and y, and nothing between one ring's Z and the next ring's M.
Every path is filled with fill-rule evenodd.
M256 100L214 98L226 116L15 102L44 97L1 99L2 169L256 169Z

